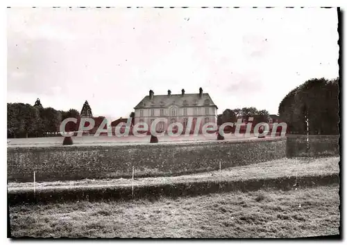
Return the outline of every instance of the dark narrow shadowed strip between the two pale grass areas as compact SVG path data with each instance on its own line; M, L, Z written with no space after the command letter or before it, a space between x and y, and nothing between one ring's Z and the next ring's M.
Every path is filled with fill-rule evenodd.
M129 199L158 199L160 197L182 197L213 192L256 191L262 188L292 190L318 185L339 183L339 174L323 176L285 176L275 179L247 179L244 181L198 181L182 183L160 183L158 185L94 186L84 188L42 189L35 194L32 189L9 190L10 205L23 203L52 203L66 201L111 201Z

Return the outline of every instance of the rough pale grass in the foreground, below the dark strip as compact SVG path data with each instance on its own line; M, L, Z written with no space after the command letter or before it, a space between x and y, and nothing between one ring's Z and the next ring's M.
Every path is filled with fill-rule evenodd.
M339 203L339 186L330 185L13 206L10 224L15 237L308 237L339 234Z

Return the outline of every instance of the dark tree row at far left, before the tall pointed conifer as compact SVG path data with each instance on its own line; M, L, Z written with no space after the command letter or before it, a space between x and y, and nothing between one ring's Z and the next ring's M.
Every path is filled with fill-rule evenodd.
M7 136L8 138L28 138L56 135L60 131L60 123L65 118L80 118L75 109L59 111L52 107L42 107L39 99L35 105L24 103L7 104ZM66 131L76 131L78 125L68 123Z

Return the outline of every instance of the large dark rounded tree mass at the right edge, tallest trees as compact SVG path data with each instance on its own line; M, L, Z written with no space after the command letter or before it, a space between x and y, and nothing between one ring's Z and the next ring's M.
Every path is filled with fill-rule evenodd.
M339 78L307 80L278 107L291 134L339 134Z

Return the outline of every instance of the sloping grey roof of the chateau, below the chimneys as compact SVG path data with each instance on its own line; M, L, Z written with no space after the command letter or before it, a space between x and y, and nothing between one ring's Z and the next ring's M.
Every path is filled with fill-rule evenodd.
M177 105L178 107L205 107L214 106L218 109L217 105L214 105L210 95L203 93L203 96L199 98L198 93L185 93L171 94L171 96L153 96L152 100L149 96L144 97L134 109L139 108L160 108L169 107L170 105Z

